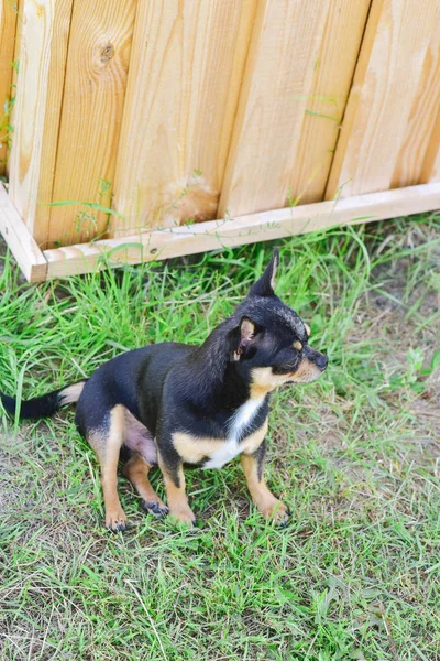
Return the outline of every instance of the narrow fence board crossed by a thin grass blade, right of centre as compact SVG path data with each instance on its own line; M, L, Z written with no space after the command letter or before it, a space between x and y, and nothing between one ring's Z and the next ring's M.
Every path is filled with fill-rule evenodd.
M371 0L330 3L300 141L290 163L289 197L295 203L323 198L370 4Z

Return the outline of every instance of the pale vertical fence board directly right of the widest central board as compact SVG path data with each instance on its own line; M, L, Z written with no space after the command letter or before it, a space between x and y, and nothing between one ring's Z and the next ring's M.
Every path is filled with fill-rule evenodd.
M284 206L330 7L258 2L220 216Z

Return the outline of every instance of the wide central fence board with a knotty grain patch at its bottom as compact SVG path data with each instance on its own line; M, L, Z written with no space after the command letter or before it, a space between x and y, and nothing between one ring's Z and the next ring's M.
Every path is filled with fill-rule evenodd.
M216 216L255 8L139 4L111 236Z

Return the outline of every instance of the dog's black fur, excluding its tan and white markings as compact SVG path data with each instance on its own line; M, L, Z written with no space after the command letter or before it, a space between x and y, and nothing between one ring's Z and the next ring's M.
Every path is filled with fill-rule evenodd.
M152 345L122 354L97 369L77 402L79 432L90 437L94 431L108 430L112 410L121 404L155 438L161 467L179 487L183 459L173 442L174 434L190 434L196 441L227 441L241 407L254 397L258 368L274 379L278 377L279 382L284 377L294 379L305 364L319 376L327 367L327 357L309 347L305 324L274 294L278 261L278 252L274 251L248 297L200 346ZM262 429L268 414L270 390L262 390L255 411L239 427L238 443ZM20 416L52 415L63 405L61 392L22 402ZM15 400L1 394L1 401L13 415ZM263 442L254 454L260 480L265 454ZM130 457L131 453L122 447L122 455Z

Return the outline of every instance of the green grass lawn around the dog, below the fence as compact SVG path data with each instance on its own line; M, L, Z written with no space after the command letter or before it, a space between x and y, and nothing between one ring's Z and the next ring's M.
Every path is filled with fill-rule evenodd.
M240 465L187 470L198 528L145 516L110 534L74 412L3 418L3 659L440 659L440 217L278 243L277 293L330 357L279 391L267 481L288 528L250 506ZM0 388L23 398L146 343L204 339L245 295L260 245L31 286L0 264ZM153 485L163 494L158 473Z

